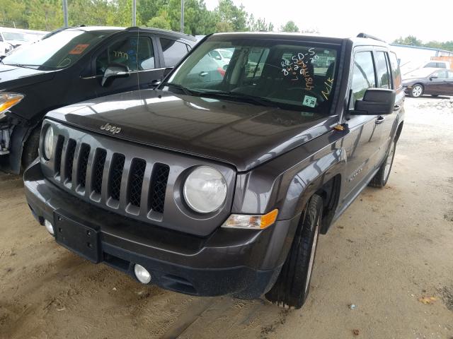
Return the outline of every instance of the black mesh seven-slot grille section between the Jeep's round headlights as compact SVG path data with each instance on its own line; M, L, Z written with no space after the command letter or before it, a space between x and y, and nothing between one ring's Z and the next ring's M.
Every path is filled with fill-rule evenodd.
M164 213L170 172L166 164L149 164L152 169L148 179L146 160L138 157L128 160L114 152L107 161L108 152L104 148L78 144L75 139L61 135L57 136L54 159L55 179L82 196L96 202L105 196L108 207L122 207L132 215L138 215L141 209L147 215Z

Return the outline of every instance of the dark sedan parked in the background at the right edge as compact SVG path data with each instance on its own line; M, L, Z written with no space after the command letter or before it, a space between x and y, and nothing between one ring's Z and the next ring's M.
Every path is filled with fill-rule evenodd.
M447 69L424 68L406 74L403 79L405 92L411 97L428 94L453 95L453 71Z

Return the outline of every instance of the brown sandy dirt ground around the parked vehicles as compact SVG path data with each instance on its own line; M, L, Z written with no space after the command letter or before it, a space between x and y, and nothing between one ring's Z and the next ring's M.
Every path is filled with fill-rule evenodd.
M320 237L301 310L144 287L57 246L0 174L0 338L453 338L453 109L406 100L385 189ZM350 308L355 304L355 308Z

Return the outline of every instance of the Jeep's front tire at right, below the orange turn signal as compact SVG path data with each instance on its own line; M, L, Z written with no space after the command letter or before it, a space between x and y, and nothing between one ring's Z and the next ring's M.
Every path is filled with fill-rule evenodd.
M323 200L315 194L302 214L280 275L265 295L279 307L300 309L309 294L322 210Z

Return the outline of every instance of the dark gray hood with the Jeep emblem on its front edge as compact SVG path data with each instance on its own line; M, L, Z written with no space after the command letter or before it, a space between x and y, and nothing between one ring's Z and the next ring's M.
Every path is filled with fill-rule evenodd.
M328 114L141 90L62 107L50 119L127 141L256 167L326 133Z

